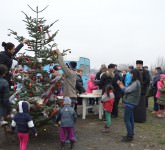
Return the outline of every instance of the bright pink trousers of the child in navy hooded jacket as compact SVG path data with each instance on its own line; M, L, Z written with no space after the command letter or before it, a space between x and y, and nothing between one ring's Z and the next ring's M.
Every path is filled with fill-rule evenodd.
M18 138L19 138L19 142L20 142L20 150L26 150L28 140L29 140L29 134L28 133L18 133Z

